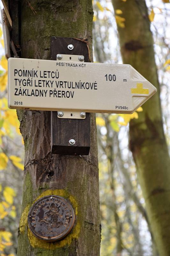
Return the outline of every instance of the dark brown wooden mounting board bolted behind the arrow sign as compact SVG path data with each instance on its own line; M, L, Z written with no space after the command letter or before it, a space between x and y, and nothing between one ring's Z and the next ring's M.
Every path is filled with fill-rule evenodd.
M74 49L69 50L68 44ZM88 49L85 43L67 37L51 38L51 59L56 60L56 54L84 55L88 61ZM74 139L75 145L69 140ZM88 155L90 150L90 114L85 119L64 119L57 117L57 111L51 111L51 153L68 155Z

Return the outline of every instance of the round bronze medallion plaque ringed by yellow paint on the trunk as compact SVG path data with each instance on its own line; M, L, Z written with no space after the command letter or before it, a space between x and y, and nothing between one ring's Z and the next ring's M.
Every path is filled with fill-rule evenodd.
M56 241L66 236L74 224L74 210L61 196L44 196L30 209L28 225L34 236Z

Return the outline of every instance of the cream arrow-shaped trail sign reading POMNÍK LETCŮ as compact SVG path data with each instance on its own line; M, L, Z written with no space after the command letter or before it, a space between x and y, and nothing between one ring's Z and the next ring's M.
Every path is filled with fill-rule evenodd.
M130 65L8 59L9 108L131 114L156 91Z

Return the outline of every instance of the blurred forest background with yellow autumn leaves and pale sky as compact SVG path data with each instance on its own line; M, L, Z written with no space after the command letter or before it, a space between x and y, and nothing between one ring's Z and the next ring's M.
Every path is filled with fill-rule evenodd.
M146 0L146 4L158 68L163 128L170 149L170 3ZM126 28L124 12L114 11L111 0L93 0L93 11L94 62L121 64L117 26ZM14 256L22 203L24 145L16 111L7 107L7 61L2 29L0 38L0 255ZM129 149L129 122L138 119L142 111L139 108L132 115L97 114L96 117L102 256L159 255Z

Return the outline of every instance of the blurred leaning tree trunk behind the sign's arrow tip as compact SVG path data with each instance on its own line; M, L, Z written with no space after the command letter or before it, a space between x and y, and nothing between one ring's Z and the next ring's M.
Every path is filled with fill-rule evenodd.
M118 27L123 63L130 64L158 92L143 105L139 118L130 122L130 148L137 166L153 235L161 256L170 255L170 159L159 100L159 82L152 33L144 0L112 0L121 9L125 28Z

